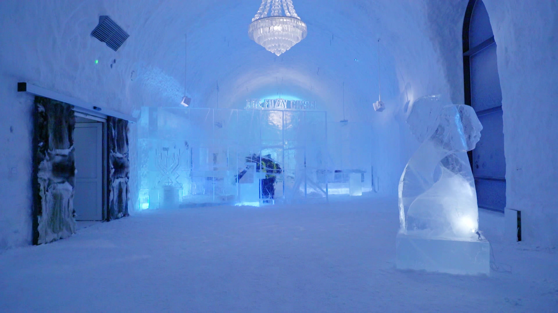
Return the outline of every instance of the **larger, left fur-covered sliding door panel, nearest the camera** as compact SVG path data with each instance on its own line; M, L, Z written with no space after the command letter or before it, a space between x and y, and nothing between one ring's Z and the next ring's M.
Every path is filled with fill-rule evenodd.
M74 126L72 107L35 97L33 243L75 233Z

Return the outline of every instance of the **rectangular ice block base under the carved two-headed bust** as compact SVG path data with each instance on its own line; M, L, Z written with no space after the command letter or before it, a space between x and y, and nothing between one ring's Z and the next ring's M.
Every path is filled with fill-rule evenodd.
M461 275L490 275L486 239L445 239L397 234L396 267Z

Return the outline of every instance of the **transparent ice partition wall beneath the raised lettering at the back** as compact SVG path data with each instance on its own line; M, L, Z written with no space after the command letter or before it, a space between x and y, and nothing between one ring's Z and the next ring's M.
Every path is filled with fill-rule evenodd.
M142 107L141 209L327 201L323 111Z

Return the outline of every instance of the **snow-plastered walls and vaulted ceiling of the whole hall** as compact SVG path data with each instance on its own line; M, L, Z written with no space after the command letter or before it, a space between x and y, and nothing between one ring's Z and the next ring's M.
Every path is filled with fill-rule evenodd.
M558 3L485 0L498 45L507 203L522 213L523 238L558 243ZM32 102L18 81L138 116L141 106L239 108L246 99L316 100L330 120L368 122L378 195L397 182L419 143L408 103L443 94L463 103L461 31L466 0L295 2L308 37L276 57L249 40L259 1L47 1L0 3L0 250L31 243ZM116 52L89 34L109 15L131 36ZM381 65L377 65L378 42ZM98 60L98 63L95 63ZM378 71L387 109L376 113ZM131 199L137 208L137 129L130 129ZM397 208L394 208L397 212Z

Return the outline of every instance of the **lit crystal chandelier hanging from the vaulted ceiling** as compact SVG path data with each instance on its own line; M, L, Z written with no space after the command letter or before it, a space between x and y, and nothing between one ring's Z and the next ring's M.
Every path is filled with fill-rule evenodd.
M267 16L270 7L271 16ZM292 0L262 0L248 27L250 39L277 56L303 40L306 33L306 24L296 14Z

